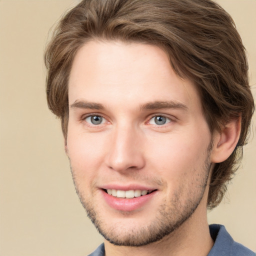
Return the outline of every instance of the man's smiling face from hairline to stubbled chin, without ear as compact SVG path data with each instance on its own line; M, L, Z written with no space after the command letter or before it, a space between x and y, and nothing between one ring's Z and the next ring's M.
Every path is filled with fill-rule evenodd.
M66 151L99 232L140 246L184 225L205 196L211 136L194 85L164 51L88 42L74 58L68 97Z

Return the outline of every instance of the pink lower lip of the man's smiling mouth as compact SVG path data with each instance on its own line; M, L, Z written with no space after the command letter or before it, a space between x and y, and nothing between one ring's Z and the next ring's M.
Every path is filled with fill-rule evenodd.
M133 198L119 198L112 196L105 191L102 191L102 195L107 202L107 204L116 209L121 211L132 211L141 208L144 206L156 193L156 191L151 192L150 194L133 197Z

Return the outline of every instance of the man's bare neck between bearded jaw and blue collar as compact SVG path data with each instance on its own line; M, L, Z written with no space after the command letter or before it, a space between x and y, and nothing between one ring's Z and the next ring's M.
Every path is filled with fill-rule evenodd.
M198 205L181 226L159 241L145 246L115 246L105 241L106 256L206 256L213 246L207 223L206 203Z

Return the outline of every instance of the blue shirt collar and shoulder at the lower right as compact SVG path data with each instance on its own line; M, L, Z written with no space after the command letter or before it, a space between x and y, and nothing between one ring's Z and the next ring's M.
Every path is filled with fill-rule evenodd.
M255 256L255 253L235 242L223 225L209 225L210 235L215 241L208 256Z

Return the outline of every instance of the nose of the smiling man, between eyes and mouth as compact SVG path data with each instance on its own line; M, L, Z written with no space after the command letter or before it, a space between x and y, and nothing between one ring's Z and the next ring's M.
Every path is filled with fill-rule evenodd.
M116 171L141 169L145 165L142 136L135 127L116 127L110 135L106 155L108 168Z

